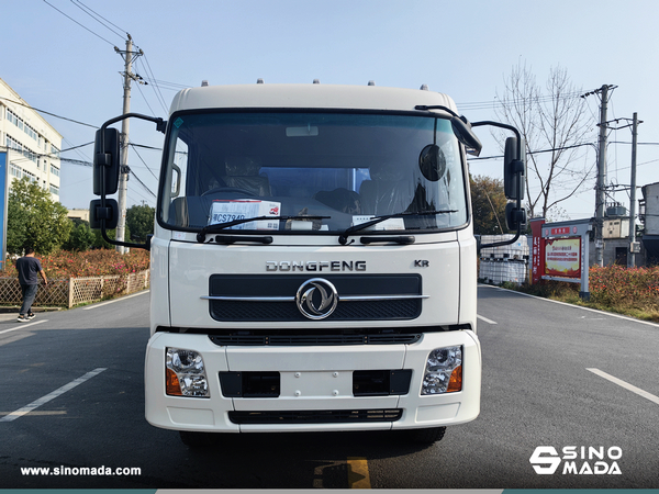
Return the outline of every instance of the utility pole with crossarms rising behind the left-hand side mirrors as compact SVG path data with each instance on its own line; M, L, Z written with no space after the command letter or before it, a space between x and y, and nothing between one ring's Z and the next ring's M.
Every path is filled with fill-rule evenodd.
M132 72L133 60L138 56L144 55L142 49L133 52L133 38L126 33L126 50L122 52L116 46L114 50L124 59L124 96L123 96L123 114L131 112L131 81L139 81L138 77ZM126 231L126 195L129 191L129 127L130 119L122 120L121 123L121 171L119 175L119 222L116 224L116 240L124 242ZM125 252L125 247L118 246L116 251Z

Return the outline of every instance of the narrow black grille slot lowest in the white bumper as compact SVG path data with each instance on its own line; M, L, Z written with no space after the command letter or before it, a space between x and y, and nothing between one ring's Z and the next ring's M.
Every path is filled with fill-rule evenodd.
M392 409L322 409L230 412L233 424L355 424L395 422L403 416L402 408Z

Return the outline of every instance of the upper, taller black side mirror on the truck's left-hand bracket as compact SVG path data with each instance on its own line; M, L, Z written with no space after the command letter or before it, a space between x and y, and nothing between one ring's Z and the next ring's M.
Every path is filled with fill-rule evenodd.
M119 131L110 127L97 131L93 146L93 193L96 195L111 195L116 192L121 168L119 161Z

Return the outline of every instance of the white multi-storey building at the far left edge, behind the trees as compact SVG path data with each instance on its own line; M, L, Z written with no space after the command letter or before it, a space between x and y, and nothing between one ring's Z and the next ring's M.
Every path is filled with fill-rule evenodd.
M0 153L10 177L27 177L59 201L60 149L62 134L0 78Z

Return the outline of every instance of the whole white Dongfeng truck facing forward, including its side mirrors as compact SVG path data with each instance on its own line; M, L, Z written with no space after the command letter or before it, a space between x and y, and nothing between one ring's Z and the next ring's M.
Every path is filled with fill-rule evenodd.
M109 125L126 117L166 135L145 245L105 233L121 168ZM466 154L480 151L478 125L516 134L504 181L518 235L520 134L470 124L425 87L202 85L175 97L167 122L103 124L92 227L150 249L146 419L192 446L209 433L320 430L428 442L474 419Z

